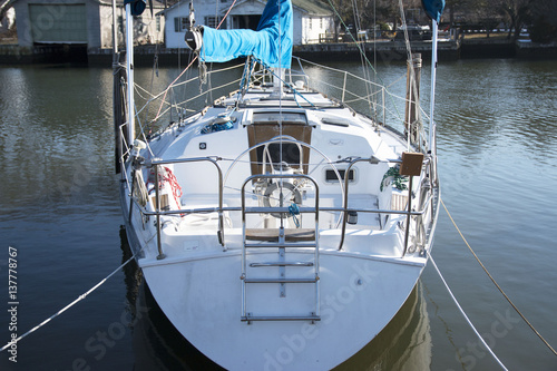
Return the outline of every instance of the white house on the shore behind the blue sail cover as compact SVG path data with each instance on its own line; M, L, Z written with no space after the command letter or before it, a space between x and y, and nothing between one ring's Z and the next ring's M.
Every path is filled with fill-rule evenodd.
M166 48L187 48L184 36L189 29L189 1L179 1L165 10ZM196 25L216 28L232 6L233 0L194 1ZM238 0L229 10L222 29L256 29L265 8L265 0ZM319 42L320 36L332 35L333 12L317 0L292 0L294 12L294 45Z

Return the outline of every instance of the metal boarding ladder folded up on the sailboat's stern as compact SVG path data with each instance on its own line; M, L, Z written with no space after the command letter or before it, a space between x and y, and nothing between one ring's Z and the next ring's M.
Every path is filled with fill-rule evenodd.
M314 185L314 206L299 206L300 214L314 214L314 227L285 228L281 223L277 228L247 228L248 214L280 214L285 219L290 211L289 205L282 204L246 206L246 185L261 179L280 183L296 178L309 179ZM248 324L253 321L320 321L319 187L315 180L304 174L248 177L242 186L242 231L241 320ZM276 258L268 260L268 252L273 251L276 251Z

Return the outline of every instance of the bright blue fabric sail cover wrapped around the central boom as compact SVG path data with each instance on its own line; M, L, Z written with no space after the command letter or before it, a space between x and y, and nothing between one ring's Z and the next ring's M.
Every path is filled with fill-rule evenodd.
M290 68L292 59L291 0L268 0L257 31L203 27L203 61L224 62L253 56L267 67Z

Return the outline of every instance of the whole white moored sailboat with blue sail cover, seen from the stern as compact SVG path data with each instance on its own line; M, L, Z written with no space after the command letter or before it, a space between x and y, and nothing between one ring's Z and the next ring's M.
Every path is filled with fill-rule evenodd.
M405 134L346 105L348 74L340 99L324 96L291 68L291 14L290 0L270 0L257 32L192 29L203 61L248 56L229 96L150 136L136 138L134 109L116 115L145 281L182 335L228 370L342 363L399 311L433 242L434 125L419 125L416 85ZM131 46L128 36L129 87Z

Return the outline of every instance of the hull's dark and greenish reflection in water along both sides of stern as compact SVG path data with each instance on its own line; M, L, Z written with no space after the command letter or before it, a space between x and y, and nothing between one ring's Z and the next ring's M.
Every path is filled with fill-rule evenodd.
M123 262L131 256L126 230L120 230ZM133 348L136 371L224 370L203 355L165 316L145 283L135 261L125 267L126 300L131 312ZM295 348L295 346L294 346ZM301 354L302 355L302 354ZM431 334L421 283L392 321L360 352L334 371L345 370L429 370ZM287 370L270 362L266 370Z

